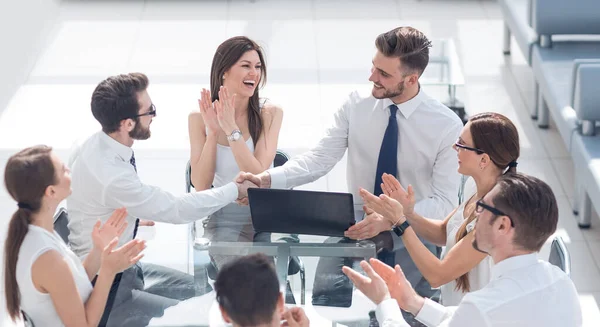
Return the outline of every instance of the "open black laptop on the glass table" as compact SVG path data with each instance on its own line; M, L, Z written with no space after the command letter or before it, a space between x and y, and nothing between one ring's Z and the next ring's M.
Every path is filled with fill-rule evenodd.
M344 236L355 223L350 193L251 188L248 202L257 232Z

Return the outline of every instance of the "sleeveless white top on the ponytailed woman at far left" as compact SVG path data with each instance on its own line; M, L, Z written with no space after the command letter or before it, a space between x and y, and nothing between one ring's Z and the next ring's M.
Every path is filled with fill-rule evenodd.
M84 303L92 293L92 283L85 268L62 238L56 232L50 233L41 227L29 225L29 231L19 250L17 284L21 293L21 310L31 317L36 326L64 326L54 308L50 294L40 292L31 279L33 263L40 255L50 250L57 251L65 258Z

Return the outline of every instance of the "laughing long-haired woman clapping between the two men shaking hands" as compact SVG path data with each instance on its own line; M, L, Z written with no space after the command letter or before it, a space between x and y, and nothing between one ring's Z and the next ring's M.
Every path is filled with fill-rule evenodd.
M210 91L202 90L200 111L189 116L191 179L196 191L221 186L240 171L258 174L272 165L283 111L260 103L265 66L262 49L245 36L232 37L217 48ZM249 208L236 203L212 214L205 232L213 241L270 241L269 234L255 235ZM213 259L217 266L224 260Z

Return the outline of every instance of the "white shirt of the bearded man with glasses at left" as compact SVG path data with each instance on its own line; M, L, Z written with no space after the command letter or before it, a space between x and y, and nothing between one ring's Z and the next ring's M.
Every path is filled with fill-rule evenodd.
M238 197L234 183L202 192L174 196L142 183L129 163L133 150L98 132L71 154L71 189L67 198L69 242L80 257L92 249L91 233L98 219L108 220L115 209L127 209L127 229L119 245L133 238L136 218L183 224L198 220Z

